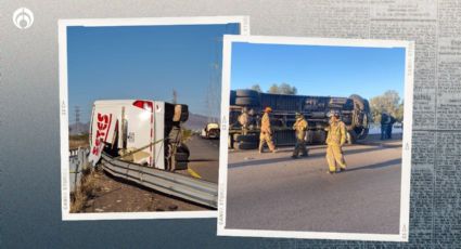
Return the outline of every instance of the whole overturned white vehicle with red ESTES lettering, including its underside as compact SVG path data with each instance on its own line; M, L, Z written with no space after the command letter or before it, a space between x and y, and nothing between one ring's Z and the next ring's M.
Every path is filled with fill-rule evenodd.
M188 169L182 143L187 105L151 100L107 100L93 104L89 161L101 155L165 171Z

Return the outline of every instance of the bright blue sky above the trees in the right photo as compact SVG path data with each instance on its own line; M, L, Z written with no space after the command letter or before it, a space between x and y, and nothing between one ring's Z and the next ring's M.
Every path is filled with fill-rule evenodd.
M303 95L404 96L405 49L232 43L231 89L289 83Z

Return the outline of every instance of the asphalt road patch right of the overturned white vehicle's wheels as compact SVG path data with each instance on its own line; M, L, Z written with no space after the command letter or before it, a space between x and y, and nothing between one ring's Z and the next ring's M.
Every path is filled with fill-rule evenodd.
M191 136L185 144L191 152L187 173L202 180L218 183L219 175L219 140L204 140L199 135ZM192 174L191 174L192 173Z

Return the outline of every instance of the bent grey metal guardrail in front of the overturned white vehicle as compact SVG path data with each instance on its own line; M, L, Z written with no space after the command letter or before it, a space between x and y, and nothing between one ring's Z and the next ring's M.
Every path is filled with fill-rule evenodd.
M217 208L218 185L216 183L120 161L106 154L102 155L101 165L106 172L114 176L136 182L171 196Z

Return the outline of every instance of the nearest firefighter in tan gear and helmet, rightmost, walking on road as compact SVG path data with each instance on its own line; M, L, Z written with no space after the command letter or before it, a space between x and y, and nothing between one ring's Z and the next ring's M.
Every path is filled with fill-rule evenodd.
M346 161L343 156L343 145L346 143L346 124L341 121L338 112L330 112L330 126L326 128L326 162L329 163L329 173L335 173L336 170L346 170ZM337 166L340 167L337 169Z

